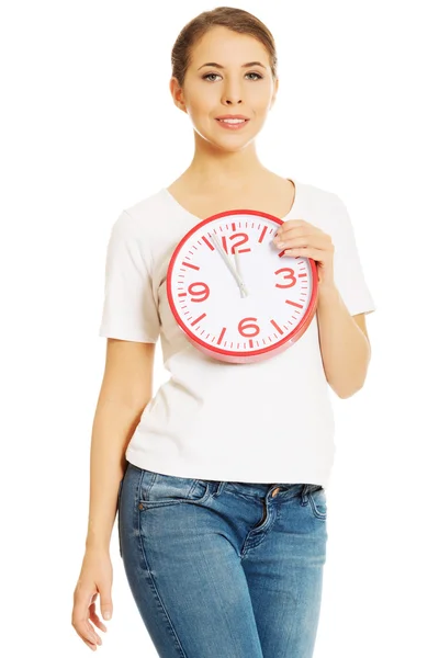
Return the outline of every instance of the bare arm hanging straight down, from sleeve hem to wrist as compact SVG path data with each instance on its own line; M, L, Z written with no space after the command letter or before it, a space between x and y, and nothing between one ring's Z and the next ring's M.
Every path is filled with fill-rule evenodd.
M109 551L125 451L153 397L155 343L108 339L92 427L87 551Z

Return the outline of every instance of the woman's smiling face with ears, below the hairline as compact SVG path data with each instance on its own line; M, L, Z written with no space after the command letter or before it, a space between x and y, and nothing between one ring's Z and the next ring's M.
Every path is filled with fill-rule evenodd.
M255 61L260 65L244 66ZM207 63L221 66L204 66ZM192 49L183 88L171 80L175 102L191 117L194 129L226 150L239 150L255 138L277 91L264 46L222 26L211 29ZM236 131L227 129L216 118L224 114L243 114L249 121Z

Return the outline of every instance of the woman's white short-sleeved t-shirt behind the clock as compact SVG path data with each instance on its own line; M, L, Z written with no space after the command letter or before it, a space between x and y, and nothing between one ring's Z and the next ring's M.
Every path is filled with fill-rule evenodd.
M295 200L282 219L303 218L331 236L335 282L349 313L371 313L345 204L294 182ZM99 334L160 338L170 373L146 406L126 460L180 477L327 487L334 416L317 316L288 350L257 363L221 362L193 347L169 307L166 277L177 245L200 222L162 188L124 209L111 231Z

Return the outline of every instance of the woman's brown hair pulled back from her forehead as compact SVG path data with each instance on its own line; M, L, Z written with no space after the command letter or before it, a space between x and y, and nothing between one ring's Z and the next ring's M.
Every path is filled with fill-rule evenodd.
M272 76L277 79L278 57L274 38L270 30L248 11L235 7L217 7L211 11L203 11L187 23L173 44L171 53L172 77L177 78L180 87L183 87L185 73L191 63L192 47L206 32L216 25L257 38L266 47Z

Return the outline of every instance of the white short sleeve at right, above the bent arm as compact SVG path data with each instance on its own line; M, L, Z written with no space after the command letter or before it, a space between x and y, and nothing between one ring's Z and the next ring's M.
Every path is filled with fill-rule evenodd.
M335 198L334 280L350 315L369 314L376 307L364 279L352 223L344 202L337 195Z

